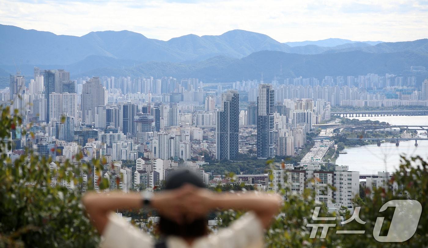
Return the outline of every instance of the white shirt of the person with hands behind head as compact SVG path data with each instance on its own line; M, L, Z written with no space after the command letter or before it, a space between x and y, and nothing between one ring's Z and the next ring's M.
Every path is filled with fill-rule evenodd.
M179 237L168 237L167 248L262 248L264 231L256 214L247 212L218 233L196 239L191 246ZM101 247L152 248L155 240L147 233L128 224L116 213L109 215Z

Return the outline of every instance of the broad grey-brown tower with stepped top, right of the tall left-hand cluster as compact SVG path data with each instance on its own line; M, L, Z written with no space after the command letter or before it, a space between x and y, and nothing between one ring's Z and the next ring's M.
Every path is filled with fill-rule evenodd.
M105 88L100 84L98 77L93 77L82 88L82 121L92 123L95 121L95 109L98 106L106 105ZM90 120L87 120L87 119Z

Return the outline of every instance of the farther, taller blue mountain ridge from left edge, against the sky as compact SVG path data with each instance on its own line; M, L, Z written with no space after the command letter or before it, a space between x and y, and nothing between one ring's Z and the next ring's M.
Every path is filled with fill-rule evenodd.
M355 43L347 46L352 48ZM189 34L163 41L129 30L93 31L83 36L67 36L1 24L0 45L8 48L0 50L0 64L9 66L14 61L33 65L68 65L91 55L140 62L197 62L218 55L242 58L264 50L318 54L330 49L342 49L290 47L265 34L246 30L229 30L217 36Z

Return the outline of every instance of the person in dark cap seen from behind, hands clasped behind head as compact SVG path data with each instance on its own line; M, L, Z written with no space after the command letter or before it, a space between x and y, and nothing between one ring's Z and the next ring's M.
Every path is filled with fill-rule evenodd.
M83 205L103 236L101 247L123 248L256 248L264 247L264 229L279 211L282 198L260 192L216 193L199 176L183 170L166 181L166 190L153 195L121 192L88 193ZM159 212L156 242L149 234L120 218L117 209L154 208ZM209 233L208 212L218 209L247 211L229 227Z

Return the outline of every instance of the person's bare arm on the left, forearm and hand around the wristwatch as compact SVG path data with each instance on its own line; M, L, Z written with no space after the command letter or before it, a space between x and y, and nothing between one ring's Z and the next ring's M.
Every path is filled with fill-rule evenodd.
M170 211L170 209L181 209L179 200L186 192L183 189L164 191L154 194L151 200L152 207L156 208L164 216L181 221L180 211ZM83 197L83 205L92 224L102 234L108 223L108 215L117 209L138 209L143 207L143 198L138 193L124 194L119 191L102 193L87 193Z

